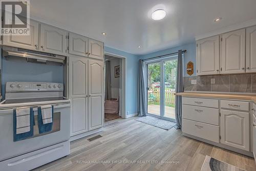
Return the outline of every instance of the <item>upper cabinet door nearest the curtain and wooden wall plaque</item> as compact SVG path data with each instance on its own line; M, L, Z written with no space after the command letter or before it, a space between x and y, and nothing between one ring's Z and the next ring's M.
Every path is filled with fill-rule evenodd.
M197 41L197 75L219 73L219 35Z

